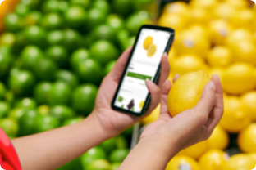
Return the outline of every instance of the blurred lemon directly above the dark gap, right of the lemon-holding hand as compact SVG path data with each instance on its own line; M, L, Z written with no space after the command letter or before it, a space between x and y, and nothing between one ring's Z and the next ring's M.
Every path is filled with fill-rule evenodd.
M251 120L244 107L239 97L224 97L224 114L219 123L220 126L231 133L245 129L251 123Z

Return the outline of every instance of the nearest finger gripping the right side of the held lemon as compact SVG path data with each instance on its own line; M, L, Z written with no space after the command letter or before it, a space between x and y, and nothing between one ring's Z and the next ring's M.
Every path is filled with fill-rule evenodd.
M216 100L216 86L213 81L209 81L203 88L202 96L192 112L197 119L197 123L204 125L208 121L209 114L213 110Z

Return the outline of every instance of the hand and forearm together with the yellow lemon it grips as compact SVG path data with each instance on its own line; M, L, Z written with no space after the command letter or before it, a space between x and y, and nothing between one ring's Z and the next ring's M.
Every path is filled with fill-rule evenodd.
M144 169L166 168L179 151L208 139L222 114L222 85L217 75L210 79L199 71L181 78L176 75L173 85L166 80L162 85L159 119L145 128L139 144L120 168L140 168L135 159L139 159Z

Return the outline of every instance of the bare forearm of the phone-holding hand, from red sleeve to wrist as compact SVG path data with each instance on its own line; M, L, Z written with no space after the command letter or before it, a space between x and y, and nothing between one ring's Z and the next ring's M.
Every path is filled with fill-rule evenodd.
M80 123L12 141L25 170L55 169L111 138L94 114Z

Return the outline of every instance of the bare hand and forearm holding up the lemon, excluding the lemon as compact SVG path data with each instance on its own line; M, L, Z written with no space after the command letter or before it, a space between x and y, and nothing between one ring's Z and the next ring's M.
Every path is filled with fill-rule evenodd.
M121 164L120 170L164 170L179 151L208 139L222 118L222 85L217 76L213 76L212 81L204 87L198 105L174 118L167 110L170 88L171 83L167 80L162 87L158 121L145 128L139 144Z

